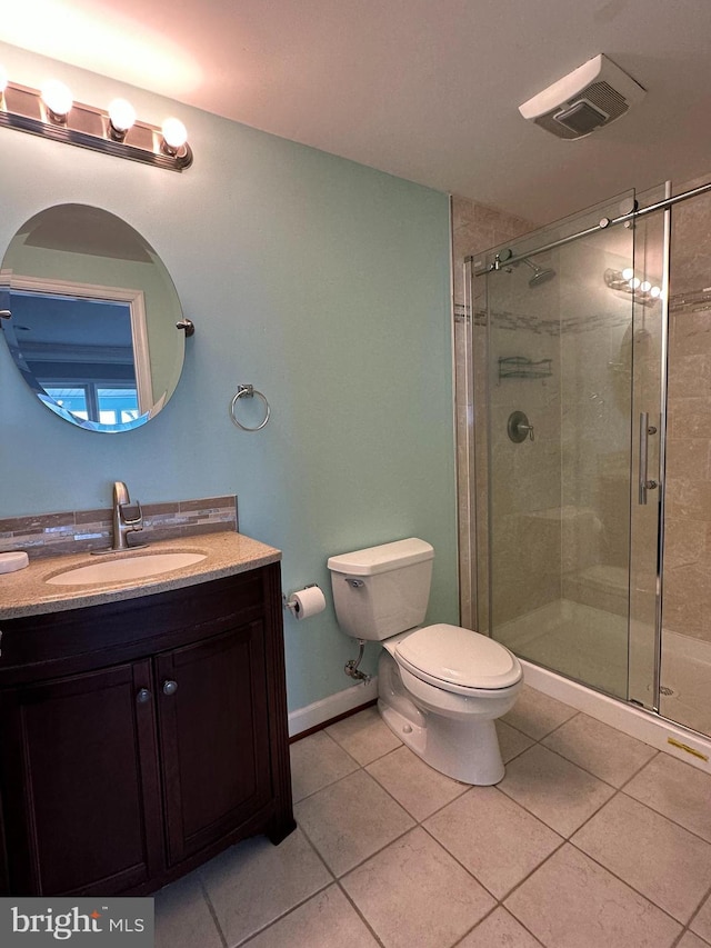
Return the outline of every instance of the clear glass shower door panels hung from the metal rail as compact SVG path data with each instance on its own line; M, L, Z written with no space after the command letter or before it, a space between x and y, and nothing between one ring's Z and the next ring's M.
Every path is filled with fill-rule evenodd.
M637 613L653 618L657 595L653 583L638 589L640 576L657 575L659 520L654 489L644 505L638 496L638 416L645 409L653 466L649 418L659 412L658 377L655 398L639 391L640 366L653 361L653 306L640 302L647 228L598 227L632 200L490 251L482 262L498 256L498 269L474 278L474 350L485 368L475 401L478 496L487 498L478 505L478 622L523 658L651 706L654 627L630 636ZM537 252L580 231L589 232ZM631 570L633 549L641 559Z

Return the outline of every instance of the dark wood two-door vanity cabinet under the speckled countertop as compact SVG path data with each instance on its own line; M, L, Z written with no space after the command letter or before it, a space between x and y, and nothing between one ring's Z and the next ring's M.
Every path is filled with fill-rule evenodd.
M150 892L293 829L278 563L2 632L2 892Z

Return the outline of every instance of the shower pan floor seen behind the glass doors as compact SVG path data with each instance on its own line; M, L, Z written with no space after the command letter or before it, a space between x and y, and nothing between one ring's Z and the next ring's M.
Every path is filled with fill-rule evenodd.
M503 622L494 638L521 658L627 699L625 616L560 599ZM710 682L711 643L664 630L661 715L711 735Z

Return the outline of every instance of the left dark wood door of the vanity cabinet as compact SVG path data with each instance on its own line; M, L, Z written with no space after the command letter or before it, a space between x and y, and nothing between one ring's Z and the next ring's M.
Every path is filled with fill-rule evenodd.
M149 660L0 692L14 895L110 895L163 864Z

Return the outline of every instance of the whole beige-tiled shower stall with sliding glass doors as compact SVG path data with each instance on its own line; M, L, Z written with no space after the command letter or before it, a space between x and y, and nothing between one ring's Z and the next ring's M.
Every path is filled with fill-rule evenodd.
M711 186L462 256L462 622L711 736Z

